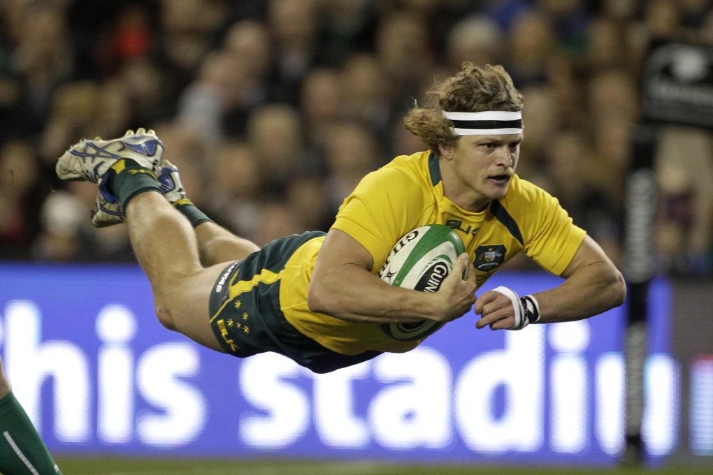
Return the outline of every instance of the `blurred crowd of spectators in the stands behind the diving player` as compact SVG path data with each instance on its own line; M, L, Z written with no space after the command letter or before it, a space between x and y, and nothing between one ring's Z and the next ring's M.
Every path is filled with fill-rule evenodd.
M520 176L621 263L652 38L713 45L711 2L2 0L0 259L133 261L125 226L89 223L96 186L58 182L54 163L136 127L228 229L259 244L326 230L364 174L424 150L401 117L472 61L524 95ZM709 132L660 131L661 272L711 273L712 150Z

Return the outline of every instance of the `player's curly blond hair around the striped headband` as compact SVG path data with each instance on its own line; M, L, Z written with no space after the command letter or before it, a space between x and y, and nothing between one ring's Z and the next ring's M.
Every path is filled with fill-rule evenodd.
M453 123L443 117L448 112L483 112L523 110L523 96L502 66L463 63L456 75L436 84L426 92L424 106L416 103L406 117L404 125L419 137L427 147L438 153L438 145L455 145L459 135L451 132Z

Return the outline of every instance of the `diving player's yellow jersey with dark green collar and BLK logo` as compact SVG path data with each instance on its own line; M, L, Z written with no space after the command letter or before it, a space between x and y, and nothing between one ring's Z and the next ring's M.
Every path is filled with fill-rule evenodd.
M371 272L376 274L396 241L425 224L445 224L458 232L476 268L478 288L522 251L560 275L585 237L557 199L517 175L505 197L483 211L461 209L443 196L438 157L431 152L396 157L367 174L344 199L332 229L344 231L369 251L374 259ZM287 321L344 355L416 348L423 338L395 340L378 323L353 323L309 310L307 289L323 240L308 241L287 261L279 296Z

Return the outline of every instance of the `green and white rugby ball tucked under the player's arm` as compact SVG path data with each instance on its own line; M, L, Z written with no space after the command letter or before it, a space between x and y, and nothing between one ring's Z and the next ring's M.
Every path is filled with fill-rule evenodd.
M391 248L379 278L391 286L421 292L436 292L453 264L466 251L456 231L443 224L427 224L401 236ZM463 276L465 278L465 276ZM423 320L414 323L384 323L381 330L395 340L421 340L443 323Z

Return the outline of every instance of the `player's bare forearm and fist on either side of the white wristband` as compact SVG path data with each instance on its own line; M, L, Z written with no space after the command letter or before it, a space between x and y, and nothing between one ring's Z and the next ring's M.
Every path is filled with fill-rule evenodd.
M590 236L585 236L562 277L565 281L560 286L533 294L538 306L536 323L581 320L624 303L622 274ZM482 316L476 328L519 329L514 300L497 290L483 293L476 302L476 314Z

